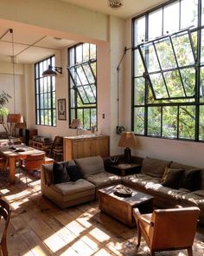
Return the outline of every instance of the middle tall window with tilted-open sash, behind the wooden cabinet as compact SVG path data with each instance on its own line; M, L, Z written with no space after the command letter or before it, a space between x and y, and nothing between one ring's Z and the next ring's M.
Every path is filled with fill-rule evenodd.
M80 43L68 49L69 123L80 119L86 129L97 124L96 45Z

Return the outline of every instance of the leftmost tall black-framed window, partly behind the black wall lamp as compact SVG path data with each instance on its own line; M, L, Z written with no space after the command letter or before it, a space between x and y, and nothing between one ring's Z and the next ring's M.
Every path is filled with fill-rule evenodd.
M55 66L54 56L35 63L35 122L38 125L55 126L55 77L41 75L48 65Z

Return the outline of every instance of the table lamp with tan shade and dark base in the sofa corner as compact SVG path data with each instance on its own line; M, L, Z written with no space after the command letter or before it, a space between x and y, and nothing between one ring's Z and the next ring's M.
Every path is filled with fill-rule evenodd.
M118 147L124 148L124 162L131 162L131 148L136 148L137 139L133 132L123 132Z

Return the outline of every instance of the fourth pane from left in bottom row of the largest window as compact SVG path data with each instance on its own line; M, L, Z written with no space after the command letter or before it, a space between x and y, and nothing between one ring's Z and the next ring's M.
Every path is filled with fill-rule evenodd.
M181 106L179 108L179 138L194 140L195 107Z

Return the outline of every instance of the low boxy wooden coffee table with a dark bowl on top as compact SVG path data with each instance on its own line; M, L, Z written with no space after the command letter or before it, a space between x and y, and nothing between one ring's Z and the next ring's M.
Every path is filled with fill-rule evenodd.
M136 226L132 209L138 207L141 213L151 213L154 197L132 189L130 197L121 197L114 194L114 188L99 189L99 209L108 215L122 221L127 226Z

